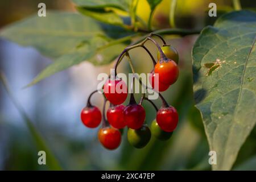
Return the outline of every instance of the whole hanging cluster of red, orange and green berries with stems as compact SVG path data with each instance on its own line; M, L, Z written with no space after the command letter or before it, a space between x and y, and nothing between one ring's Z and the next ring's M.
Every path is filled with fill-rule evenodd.
M162 47L151 38L154 35L158 36L163 41ZM151 40L158 47L157 63L148 49L144 47L144 43L147 40ZM145 95L142 96L141 101L137 104L133 93L130 94L129 105L122 105L128 95L127 85L121 78L115 78L113 80L109 78L103 87L105 98L103 112L101 113L98 107L93 106L90 103L90 97L96 93L97 90L90 94L86 107L81 111L81 120L86 127L98 127L102 121L102 127L98 131L98 139L101 144L109 150L114 150L119 146L122 138L121 130L126 126L128 127L127 139L129 143L136 148L146 146L150 141L151 133L160 140L169 139L177 126L179 117L176 109L173 106L168 105L162 94L160 94L160 92L167 90L170 85L174 84L179 76L179 68L177 67L179 55L176 49L167 45L160 35L151 34L143 42L124 49L115 64L115 76L117 65L122 60L122 57L124 55L129 56L128 51L136 47L143 47L152 58L154 69L151 71L149 77L152 86L150 89L153 89L159 94L163 101L163 105L158 109L154 102L145 97ZM155 79L156 74L158 74L158 80ZM156 86L156 84L158 84L158 86ZM118 92L117 85L119 85L121 90L125 90L126 92ZM147 89L149 88L147 87ZM146 111L142 106L143 100L150 101L157 111L156 119L151 123L151 129L144 124ZM106 101L110 102L110 106L106 111L105 118Z

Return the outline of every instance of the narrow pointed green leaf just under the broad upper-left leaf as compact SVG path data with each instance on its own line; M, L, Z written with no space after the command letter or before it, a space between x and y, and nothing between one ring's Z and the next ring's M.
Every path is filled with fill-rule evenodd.
M111 63L111 61L113 61L127 46L122 43L108 46L111 43L111 41L109 42L102 37L95 37L90 40L90 42L81 43L79 46L69 51L69 53L60 56L52 64L49 64L48 67L40 72L27 86L34 85L48 76L63 71L85 60L90 61L94 65Z

